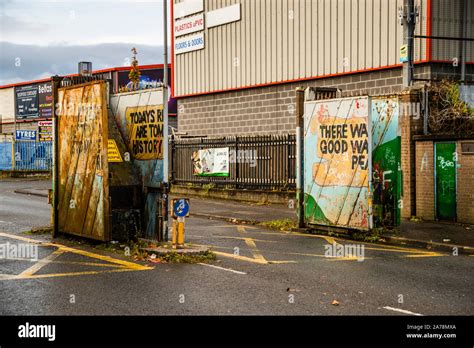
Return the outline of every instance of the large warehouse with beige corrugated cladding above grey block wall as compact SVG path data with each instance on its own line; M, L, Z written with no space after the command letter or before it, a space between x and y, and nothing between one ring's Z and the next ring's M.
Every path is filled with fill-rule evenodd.
M342 96L403 89L404 0L173 2L180 132L292 133L297 87L335 87ZM416 0L415 6L415 35L474 37L471 1ZM416 84L460 79L463 63L464 80L474 79L472 41L416 38L413 56Z

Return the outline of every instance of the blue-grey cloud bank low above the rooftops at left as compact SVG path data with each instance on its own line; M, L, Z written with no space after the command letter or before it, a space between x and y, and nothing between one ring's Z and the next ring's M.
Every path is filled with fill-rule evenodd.
M38 46L2 41L0 85L77 73L80 61L92 62L94 70L124 66L129 61L132 47L138 50L140 65L163 61L162 46L133 43Z

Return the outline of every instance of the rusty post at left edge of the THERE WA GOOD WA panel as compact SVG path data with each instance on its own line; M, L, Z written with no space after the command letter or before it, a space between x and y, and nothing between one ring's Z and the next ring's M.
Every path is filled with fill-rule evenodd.
M296 198L298 227L304 227L304 89L296 89Z

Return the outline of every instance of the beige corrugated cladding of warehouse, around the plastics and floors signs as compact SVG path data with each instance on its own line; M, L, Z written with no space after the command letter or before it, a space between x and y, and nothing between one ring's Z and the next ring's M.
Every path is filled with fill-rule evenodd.
M206 28L205 49L175 56L177 96L399 63L403 0L204 0L204 11L236 3L240 21ZM417 3L425 35L426 0Z

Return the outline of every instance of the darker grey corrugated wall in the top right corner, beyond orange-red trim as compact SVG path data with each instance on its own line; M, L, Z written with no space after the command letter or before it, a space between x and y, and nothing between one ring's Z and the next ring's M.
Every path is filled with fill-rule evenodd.
M463 37L462 18L463 0L431 0L432 1L432 35L447 37ZM474 37L474 3L467 0L467 37ZM434 60L457 58L461 62L461 41L432 40ZM467 42L467 61L474 61L474 43Z

